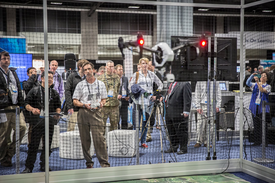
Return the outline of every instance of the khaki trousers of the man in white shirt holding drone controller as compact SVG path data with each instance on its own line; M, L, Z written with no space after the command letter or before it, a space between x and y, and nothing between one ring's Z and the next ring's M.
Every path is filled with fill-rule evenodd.
M105 126L100 110L101 109L96 109L95 111L91 111L89 109L80 108L77 114L77 125L86 166L94 165L92 155L90 154L91 131L94 149L101 167L110 167L110 163L108 163L107 145L103 137Z

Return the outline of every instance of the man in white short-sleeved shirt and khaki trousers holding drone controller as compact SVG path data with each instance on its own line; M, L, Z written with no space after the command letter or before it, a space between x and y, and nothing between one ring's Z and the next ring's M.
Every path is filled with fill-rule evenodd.
M108 163L107 145L103 137L105 125L101 117L101 108L107 98L105 84L94 77L94 65L85 63L82 66L86 79L76 85L73 100L74 105L79 108L77 114L77 125L84 158L87 168L93 168L93 154L90 154L91 137L94 149L101 167L110 167Z

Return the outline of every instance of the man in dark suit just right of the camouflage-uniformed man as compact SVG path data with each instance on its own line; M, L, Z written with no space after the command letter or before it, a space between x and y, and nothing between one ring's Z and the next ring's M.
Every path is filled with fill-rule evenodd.
M128 106L130 99L130 90L128 89L128 78L123 76L123 66L116 65L115 70L117 75L120 77L120 88L118 99L121 102L121 107L119 109L119 118L121 117L121 129L126 130L128 127ZM119 124L118 124L119 129Z

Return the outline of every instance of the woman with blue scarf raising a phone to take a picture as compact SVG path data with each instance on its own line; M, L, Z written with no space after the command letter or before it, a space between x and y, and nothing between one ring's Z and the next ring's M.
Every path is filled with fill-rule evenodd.
M255 79L256 83L251 82L253 78ZM269 102L268 95L271 91L271 86L266 83L268 80L268 72L263 71L261 75L253 73L246 81L246 84L252 90L249 110L251 110L254 124L255 143L252 144L253 146L261 145L262 143L262 101ZM269 113L269 106L266 106L266 113ZM266 146L268 146L267 143Z

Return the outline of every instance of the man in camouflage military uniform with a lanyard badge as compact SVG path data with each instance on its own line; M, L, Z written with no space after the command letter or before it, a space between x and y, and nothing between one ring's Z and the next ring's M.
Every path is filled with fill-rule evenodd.
M108 60L105 68L106 72L97 77L97 79L104 82L106 86L108 97L102 108L103 111L101 111L101 115L105 125L109 117L111 124L110 131L112 131L117 129L117 124L119 123L119 99L117 99L117 96L120 88L120 78L118 75L114 74L113 61Z

